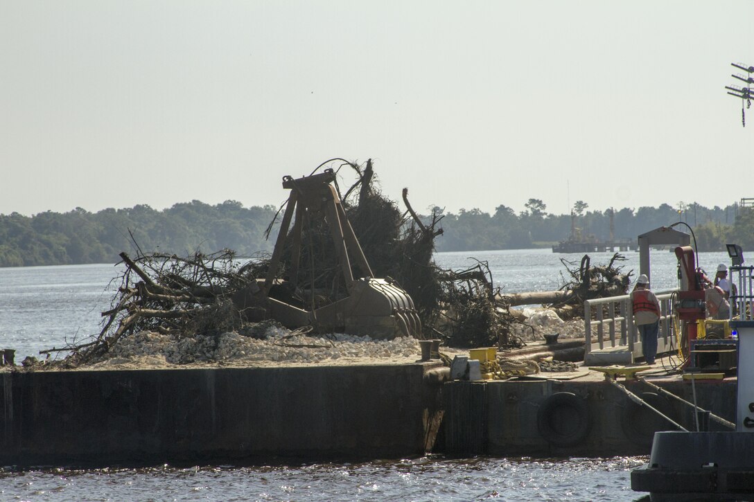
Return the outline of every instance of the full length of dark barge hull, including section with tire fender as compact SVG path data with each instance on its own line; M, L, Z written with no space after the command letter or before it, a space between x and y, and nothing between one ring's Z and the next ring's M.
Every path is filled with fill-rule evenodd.
M656 372L649 369L647 372ZM643 373L642 373L643 374ZM0 373L0 464L244 464L448 455L648 455L673 430L601 372L450 381L436 360L369 366ZM691 427L691 383L618 382ZM694 382L734 419L735 378ZM710 421L710 430L722 430Z

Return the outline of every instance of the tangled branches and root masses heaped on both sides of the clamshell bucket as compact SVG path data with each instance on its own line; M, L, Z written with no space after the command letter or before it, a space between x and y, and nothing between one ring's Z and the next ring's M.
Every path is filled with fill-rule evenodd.
M337 161L342 159L331 159L320 167ZM438 228L442 216L419 217L406 189L406 211L399 210L377 188L371 160L366 165L342 161L338 169L342 167L357 173L357 181L345 193L341 194L337 185L336 190L366 260L376 277L391 277L411 295L424 337L442 338L456 347L489 346L507 339L516 318L507 305L501 308L486 263L479 262L466 271L435 265L434 239L443 233ZM273 219L268 233L274 225ZM298 274L303 278L302 289L311 292L312 303L317 292L317 307L336 302L346 292L340 283L342 272L329 226L308 220L301 243ZM293 268L292 248L293 230L284 241L274 271L276 283L285 283ZM187 258L138 249L135 258L126 253L121 253L121 258L124 273L111 308L103 312L100 333L85 343L44 352L68 350L71 354L64 363L78 366L105 357L115 344L134 333L160 332L176 340L234 330L246 333L253 332L254 322L265 318L263 298L262 302L249 298L259 298L257 280L267 277L270 256L241 262L229 249L210 255L197 252ZM296 295L290 298L295 305ZM300 307L311 308L305 298L299 296L298 300Z

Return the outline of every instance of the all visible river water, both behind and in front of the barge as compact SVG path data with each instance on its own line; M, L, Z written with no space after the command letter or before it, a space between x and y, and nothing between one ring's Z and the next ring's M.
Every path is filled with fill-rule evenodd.
M624 253L625 271L639 270L639 253ZM612 253L590 253L592 265ZM568 280L548 249L437 253L438 265L465 269L486 262L504 292L558 289ZM700 253L714 271L726 253ZM114 265L0 268L0 345L17 362L39 350L64 347L100 331L119 268ZM676 258L651 253L652 288L677 285ZM566 275L566 277L562 277ZM0 469L2 500L640 500L629 471L645 458L467 458L437 456L364 464L148 469Z

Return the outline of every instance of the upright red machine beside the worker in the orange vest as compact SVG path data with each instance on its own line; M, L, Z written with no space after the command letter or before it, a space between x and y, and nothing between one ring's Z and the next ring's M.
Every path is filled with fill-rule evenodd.
M676 312L681 320L679 345L688 353L692 340L697 339L697 321L705 317L704 273L696 266L691 246L676 247L681 272L681 290L678 293Z

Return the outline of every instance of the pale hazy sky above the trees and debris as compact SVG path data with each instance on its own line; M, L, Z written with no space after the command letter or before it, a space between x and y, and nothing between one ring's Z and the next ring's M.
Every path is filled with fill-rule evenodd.
M333 157L420 212L725 206L752 32L748 0L0 0L0 213L277 205Z

